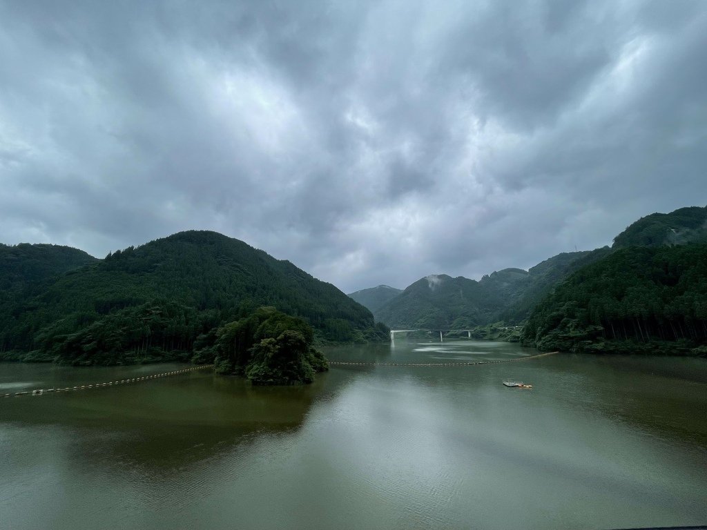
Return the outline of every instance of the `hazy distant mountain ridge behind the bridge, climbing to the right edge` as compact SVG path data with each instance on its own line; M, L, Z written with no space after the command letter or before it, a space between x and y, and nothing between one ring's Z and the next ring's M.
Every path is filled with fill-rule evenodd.
M428 276L372 311L378 322L394 327L454 328L497 321L520 324L539 302L575 271L609 257L617 249L700 242L707 242L707 206L653 213L629 225L614 238L611 248L563 252L528 271L503 269L485 275L479 282L463 276L435 276L444 284L443 289L433 289L426 281L430 278ZM455 296L455 290L464 296Z

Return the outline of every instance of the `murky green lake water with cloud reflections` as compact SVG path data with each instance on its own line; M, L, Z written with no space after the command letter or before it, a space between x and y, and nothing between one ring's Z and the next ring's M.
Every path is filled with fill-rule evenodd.
M531 353L401 340L327 351L382 363ZM0 394L177 367L2 364ZM13 530L707 524L707 360L332 367L290 388L202 370L0 399L0 455L0 526Z

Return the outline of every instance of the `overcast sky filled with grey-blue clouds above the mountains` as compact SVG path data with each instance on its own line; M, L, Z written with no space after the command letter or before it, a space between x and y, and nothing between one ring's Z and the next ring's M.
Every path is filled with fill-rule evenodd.
M346 292L707 204L707 2L0 0L0 242L216 230Z

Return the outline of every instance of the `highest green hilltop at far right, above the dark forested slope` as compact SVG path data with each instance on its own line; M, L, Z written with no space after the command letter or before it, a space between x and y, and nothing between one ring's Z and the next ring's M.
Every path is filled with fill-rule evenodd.
M614 248L707 243L707 206L651 213L614 237Z

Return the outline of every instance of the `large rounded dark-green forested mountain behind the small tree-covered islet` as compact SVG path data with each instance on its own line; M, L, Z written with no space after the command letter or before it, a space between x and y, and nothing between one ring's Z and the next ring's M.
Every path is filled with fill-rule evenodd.
M216 326L273 306L331 341L387 338L365 307L289 261L216 232L180 232L63 273L0 305L6 358L93 364L180 352Z

